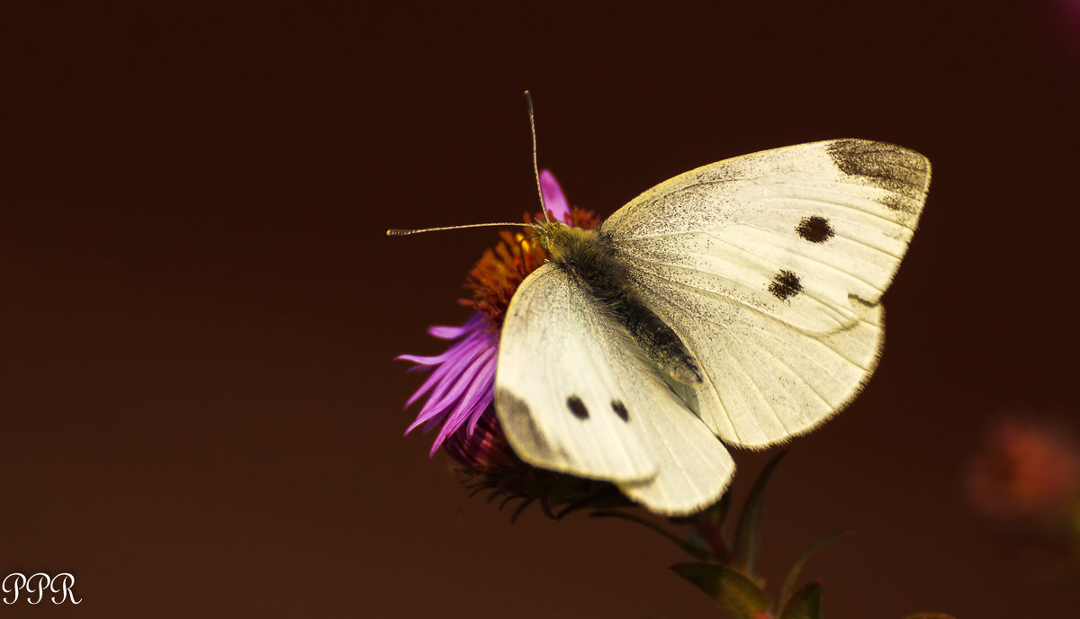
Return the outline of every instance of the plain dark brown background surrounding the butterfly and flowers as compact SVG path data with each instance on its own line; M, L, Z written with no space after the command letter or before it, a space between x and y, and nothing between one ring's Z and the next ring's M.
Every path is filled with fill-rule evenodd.
M4 9L0 575L77 576L36 616L715 616L660 538L511 525L401 436L391 360L440 350L495 233L383 230L534 210L529 88L542 164L605 215L770 147L926 153L883 361L791 444L762 566L846 527L806 574L831 617L1068 616L1077 570L960 483L994 416L1077 414L1080 58L1050 1ZM737 456L741 497L766 456Z

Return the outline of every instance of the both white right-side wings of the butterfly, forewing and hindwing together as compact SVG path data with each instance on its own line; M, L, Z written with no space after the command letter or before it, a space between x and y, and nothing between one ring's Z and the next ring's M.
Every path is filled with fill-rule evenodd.
M605 221L634 288L698 358L691 406L717 435L780 442L854 395L929 180L896 146L807 144L690 171Z

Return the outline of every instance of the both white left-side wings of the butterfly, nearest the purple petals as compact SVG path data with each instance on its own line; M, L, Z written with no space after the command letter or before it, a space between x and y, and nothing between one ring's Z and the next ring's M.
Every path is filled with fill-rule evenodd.
M715 501L733 470L625 331L555 265L531 273L511 300L496 408L522 459L612 481L658 512Z

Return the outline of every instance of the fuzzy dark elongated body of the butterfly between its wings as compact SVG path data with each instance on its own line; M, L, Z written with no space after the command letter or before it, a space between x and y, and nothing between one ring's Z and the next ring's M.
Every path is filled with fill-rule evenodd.
M626 267L618 259L608 236L561 221L538 221L532 228L552 264L578 281L603 313L625 328L642 356L653 363L663 377L683 385L701 382L693 354L630 285Z

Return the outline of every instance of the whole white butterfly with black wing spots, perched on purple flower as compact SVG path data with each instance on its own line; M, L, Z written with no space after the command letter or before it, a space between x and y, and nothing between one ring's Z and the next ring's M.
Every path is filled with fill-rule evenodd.
M867 380L929 184L917 152L838 139L692 170L598 230L535 225L552 259L499 344L511 446L659 513L711 504L734 470L720 440L786 441Z

